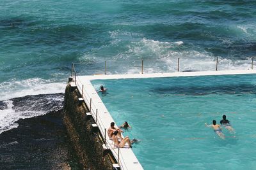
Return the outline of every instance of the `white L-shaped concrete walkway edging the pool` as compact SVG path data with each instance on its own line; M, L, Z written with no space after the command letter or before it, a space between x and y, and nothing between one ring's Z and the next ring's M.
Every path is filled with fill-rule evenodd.
M115 148L113 141L108 138L108 128L111 122L115 122L111 114L107 110L104 103L100 99L97 91L93 87L91 80L107 80L107 79L121 79L121 78L164 78L177 76L212 76L212 75L230 75L230 74L256 74L256 70L232 70L232 71L196 71L196 72L175 72L175 73L150 73L150 74L98 74L93 76L76 76L76 85L83 100L88 107L91 106L91 114L102 136L106 135L106 146L113 153L116 160L119 160L120 169L143 169L140 162L132 152L132 148L120 148L118 157L118 148ZM91 102L92 101L92 102ZM90 108L89 108L90 109ZM106 129L106 130L105 130Z

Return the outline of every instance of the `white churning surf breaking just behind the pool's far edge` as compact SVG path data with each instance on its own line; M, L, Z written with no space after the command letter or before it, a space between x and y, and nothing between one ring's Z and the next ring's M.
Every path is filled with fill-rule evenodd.
M245 28L241 27L241 29ZM113 46L116 46L116 48L122 46L126 50L113 52L113 56L108 58L107 74L141 73L141 59L143 59L144 73L177 71L178 58L180 59L179 71L214 71L216 69L217 57L219 70L250 69L251 67L251 59L225 59L221 56L214 56L211 52L202 49L188 49L186 46L183 46L183 41L158 41L155 39L141 38L141 35L132 34L131 32L121 32L119 30L109 32L109 34L113 38L113 44L106 45L100 49L94 49L92 53L83 56L83 60L93 61L93 67L99 68L102 73L104 73L104 64L102 64L103 62L100 63L100 61L106 59L99 54L102 51L111 50ZM124 39L122 36L125 36L127 42L119 42L119 40ZM118 43L115 44L117 41ZM221 41L230 43L227 39L222 39ZM93 69L93 67L90 67L90 69Z

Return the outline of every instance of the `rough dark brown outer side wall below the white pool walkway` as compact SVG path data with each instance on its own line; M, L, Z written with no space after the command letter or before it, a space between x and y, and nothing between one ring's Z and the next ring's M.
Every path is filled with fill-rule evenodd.
M113 159L109 152L103 152L99 131L93 131L93 118L86 118L88 107L79 103L80 94L70 84L65 90L64 118L70 141L77 153L83 169L113 169Z

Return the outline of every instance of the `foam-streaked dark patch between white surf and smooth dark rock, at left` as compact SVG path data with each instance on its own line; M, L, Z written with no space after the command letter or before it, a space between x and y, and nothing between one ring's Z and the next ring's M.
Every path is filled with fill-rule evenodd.
M63 107L63 94L44 94L13 98L1 102L0 134L18 127L17 120L45 115Z

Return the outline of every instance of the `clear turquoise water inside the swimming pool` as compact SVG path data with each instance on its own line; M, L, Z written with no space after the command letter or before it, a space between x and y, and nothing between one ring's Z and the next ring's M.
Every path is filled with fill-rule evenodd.
M141 139L132 150L144 169L254 169L256 75L94 80L117 124ZM204 123L227 115L236 134L220 139Z

